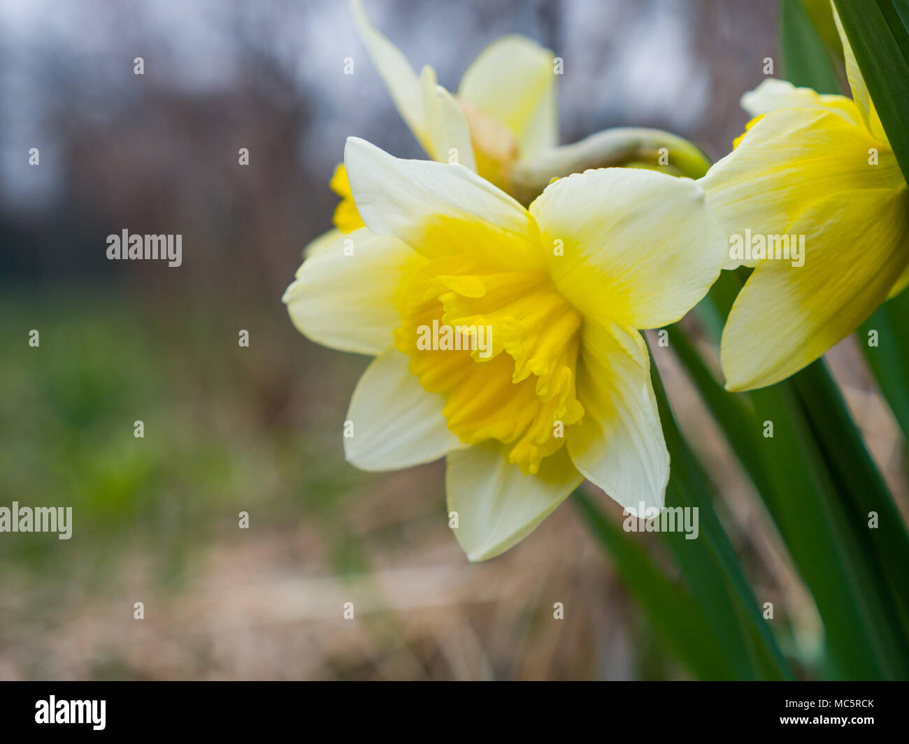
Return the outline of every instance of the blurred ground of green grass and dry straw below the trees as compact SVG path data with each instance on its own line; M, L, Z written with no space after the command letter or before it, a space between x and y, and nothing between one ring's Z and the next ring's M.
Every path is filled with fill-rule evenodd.
M0 679L675 676L572 510L473 566L438 465L345 462L367 363L276 298L0 293L0 506L73 507L69 541L0 534Z

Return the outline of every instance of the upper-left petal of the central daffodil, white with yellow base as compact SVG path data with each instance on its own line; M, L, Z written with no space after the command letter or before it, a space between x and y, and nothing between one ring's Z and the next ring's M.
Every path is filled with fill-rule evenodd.
M371 231L395 235L430 258L488 249L490 262L542 267L534 219L463 165L401 160L350 137L345 163L357 208Z

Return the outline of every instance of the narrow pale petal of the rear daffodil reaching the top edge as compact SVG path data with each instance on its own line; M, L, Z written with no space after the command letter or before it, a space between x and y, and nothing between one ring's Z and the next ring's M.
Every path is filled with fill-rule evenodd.
M360 0L350 0L350 11L360 37L385 82L401 118L428 152L428 124L420 80L401 50L385 38L369 21Z

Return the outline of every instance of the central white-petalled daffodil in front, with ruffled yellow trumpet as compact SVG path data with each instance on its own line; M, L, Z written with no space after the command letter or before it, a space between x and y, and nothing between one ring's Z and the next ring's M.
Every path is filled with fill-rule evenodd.
M446 457L470 560L523 539L584 478L634 513L662 507L669 456L638 329L677 321L720 272L701 188L600 169L528 210L461 164L351 138L345 165L366 227L352 250L307 258L284 301L311 340L375 355L346 459Z

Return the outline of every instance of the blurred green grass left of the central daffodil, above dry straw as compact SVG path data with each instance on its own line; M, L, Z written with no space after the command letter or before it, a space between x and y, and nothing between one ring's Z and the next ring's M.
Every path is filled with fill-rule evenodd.
M315 520L337 536L339 568L362 567L331 528L362 478L344 463L339 419L365 359L305 342L284 313L198 300L7 292L0 318L0 505L72 506L74 522L70 541L3 536L6 570L95 583L137 551L179 583L239 511L256 527Z

